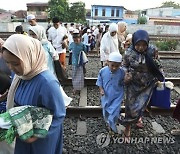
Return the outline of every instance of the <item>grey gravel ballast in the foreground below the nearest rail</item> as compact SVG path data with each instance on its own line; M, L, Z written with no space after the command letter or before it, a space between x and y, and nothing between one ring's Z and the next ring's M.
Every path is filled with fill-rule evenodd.
M78 123L84 122L86 128L81 129L79 132ZM163 133L154 130L153 124L157 123L163 128ZM66 117L64 122L64 154L178 154L180 153L180 137L172 136L170 131L172 129L180 128L180 124L170 116L154 116L143 117L143 129L137 129L132 126L131 138L135 139L134 142L125 142L122 134L115 134L114 136L109 134L109 131L105 125L102 117L99 118L68 118ZM84 133L85 132L85 133ZM81 134L82 133L82 134ZM97 139L97 136L101 136L103 133L110 137L110 142L107 146L102 147L101 142ZM142 143L144 138L148 138L151 141L159 139L159 143L147 142ZM142 140L141 140L142 139ZM161 140L162 139L162 140ZM171 139L172 142L167 143L165 139ZM115 141L114 141L115 140ZM141 141L140 141L141 140Z

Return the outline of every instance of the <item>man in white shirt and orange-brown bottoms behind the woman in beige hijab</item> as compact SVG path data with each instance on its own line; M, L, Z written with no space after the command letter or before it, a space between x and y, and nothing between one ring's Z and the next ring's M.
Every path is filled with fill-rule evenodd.
M48 30L48 40L59 54L61 65L66 68L67 29L60 24L58 17L54 17L53 26Z

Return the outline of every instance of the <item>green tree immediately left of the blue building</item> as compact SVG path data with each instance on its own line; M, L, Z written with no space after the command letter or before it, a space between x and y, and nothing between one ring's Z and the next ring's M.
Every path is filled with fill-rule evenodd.
M85 23L86 22L86 9L85 3L75 2L71 3L70 7L70 21L76 23Z

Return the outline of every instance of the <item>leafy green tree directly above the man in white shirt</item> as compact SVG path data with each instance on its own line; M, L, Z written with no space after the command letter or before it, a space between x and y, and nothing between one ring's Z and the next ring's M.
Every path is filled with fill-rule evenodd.
M67 0L50 0L48 5L50 18L58 16L62 22L69 21L69 4Z

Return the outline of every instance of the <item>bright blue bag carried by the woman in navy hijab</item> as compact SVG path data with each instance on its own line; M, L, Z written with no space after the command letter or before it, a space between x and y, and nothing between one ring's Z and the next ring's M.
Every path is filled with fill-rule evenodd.
M150 100L150 106L156 106L164 109L170 109L171 102L170 102L170 89L163 84L161 89L158 89L156 86L153 89L153 93Z

